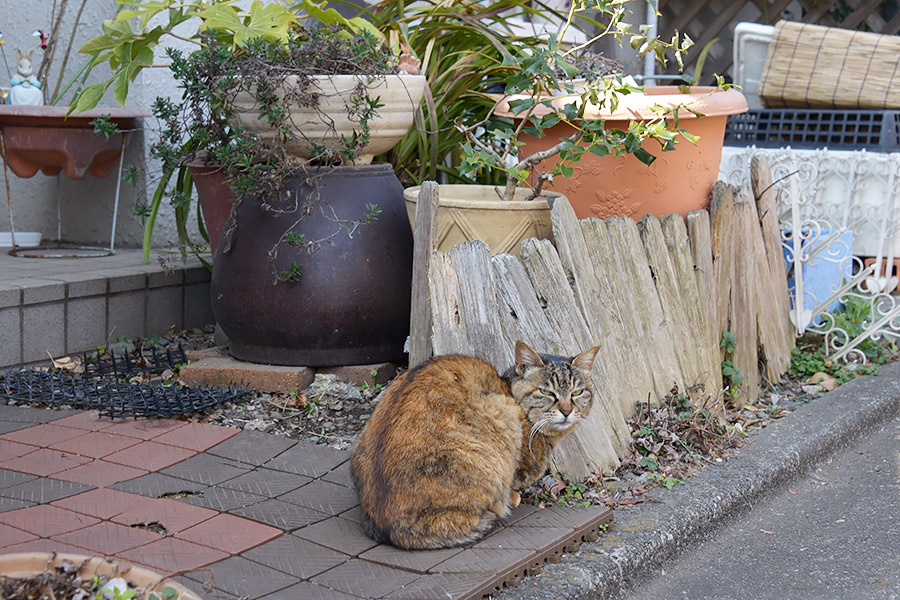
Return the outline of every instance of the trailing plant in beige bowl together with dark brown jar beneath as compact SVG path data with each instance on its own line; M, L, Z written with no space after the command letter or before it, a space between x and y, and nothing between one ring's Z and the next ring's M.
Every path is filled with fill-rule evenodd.
M185 165L199 151L234 191L212 277L213 312L234 356L307 366L399 360L411 232L393 169L366 163L409 128L424 77L362 21L301 6L309 10L151 3L120 11L88 50L133 41L118 33L131 19L199 19L199 49L169 52L184 93L154 106L166 124L155 152L163 177L177 174L176 199L190 197ZM301 16L334 26L304 28ZM104 85L128 81L122 68ZM76 109L89 105L84 98Z

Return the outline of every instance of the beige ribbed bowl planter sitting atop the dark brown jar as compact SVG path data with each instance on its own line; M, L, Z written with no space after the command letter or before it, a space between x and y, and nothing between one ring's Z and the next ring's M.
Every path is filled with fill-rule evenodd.
M313 76L313 89L301 90L305 94L317 94L319 104L300 107L290 103L290 122L297 139L287 145L287 150L301 159L309 159L315 145L327 147L332 152L340 150L341 136L350 137L359 129L359 120L352 117L353 98L360 86L365 95L378 98L383 104L378 117L370 123L369 143L354 161L367 165L372 158L387 152L399 142L413 123L416 107L425 94L424 75L317 75ZM276 92L284 98L299 88L297 76L289 76ZM235 98L235 119L247 130L258 132L263 139L274 139L275 131L266 119L260 119L256 99L249 92L241 92Z

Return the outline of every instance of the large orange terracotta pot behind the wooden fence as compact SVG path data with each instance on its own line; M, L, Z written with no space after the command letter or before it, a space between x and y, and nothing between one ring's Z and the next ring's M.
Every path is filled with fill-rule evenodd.
M654 106L690 106L704 117L679 110L679 127L698 136L694 145L679 136L675 150L662 152L658 142L647 140L643 148L656 156L645 165L634 156L595 156L586 154L575 163L571 178L555 177L551 189L563 192L579 218L612 216L640 219L646 214L682 216L709 204L709 193L719 174L722 142L728 115L747 111L747 100L737 90L713 92L715 88L694 87L682 94L675 86L645 88L644 94L628 94L621 98L616 111L588 107L586 118L606 119L607 128L627 130L632 120L658 118ZM568 102L572 99L569 98ZM566 103L560 99L559 105ZM498 114L511 116L509 112ZM574 130L564 123L551 127L544 137L522 135L524 145L519 156L546 150ZM548 167L555 158L544 161Z

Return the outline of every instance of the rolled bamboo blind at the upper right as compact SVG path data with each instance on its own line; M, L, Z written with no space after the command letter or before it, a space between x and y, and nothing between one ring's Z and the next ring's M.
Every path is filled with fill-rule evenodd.
M900 37L780 21L759 95L770 108L900 108Z

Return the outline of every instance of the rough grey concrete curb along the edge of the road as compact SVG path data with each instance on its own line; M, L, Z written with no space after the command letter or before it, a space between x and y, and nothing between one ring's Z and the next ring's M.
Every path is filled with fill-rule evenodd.
M615 524L596 542L498 598L617 597L683 547L898 411L900 363L891 363L877 377L859 377L755 433L737 457L671 491L655 489L660 502L617 510Z

